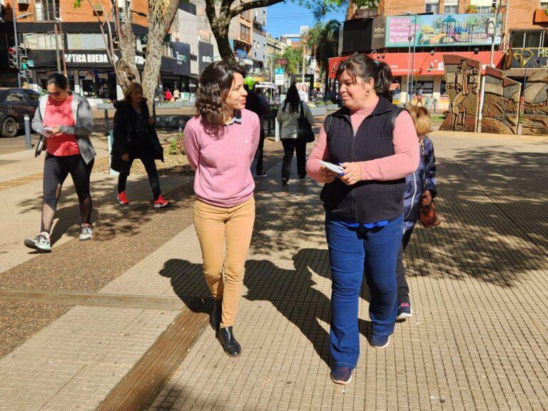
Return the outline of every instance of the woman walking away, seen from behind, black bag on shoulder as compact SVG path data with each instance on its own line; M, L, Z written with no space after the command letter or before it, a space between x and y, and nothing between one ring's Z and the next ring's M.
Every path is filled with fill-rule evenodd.
M300 181L306 179L306 141L299 138L299 118L304 116L313 125L314 117L308 104L300 101L299 91L293 83L288 89L288 95L278 108L278 123L283 144L282 184L287 186L291 175L293 153L297 152L297 174Z

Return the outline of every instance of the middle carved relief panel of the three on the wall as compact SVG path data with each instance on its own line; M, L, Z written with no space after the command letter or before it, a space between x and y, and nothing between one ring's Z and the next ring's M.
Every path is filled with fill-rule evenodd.
M485 68L482 133L517 134L521 89L521 83L506 78L504 71Z

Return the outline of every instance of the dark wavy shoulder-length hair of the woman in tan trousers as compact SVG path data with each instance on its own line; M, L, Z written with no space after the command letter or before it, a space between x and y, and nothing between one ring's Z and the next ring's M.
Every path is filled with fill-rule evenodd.
M205 123L214 126L223 124L223 114L228 108L225 98L230 92L235 73L245 76L243 68L230 61L215 61L205 67L196 92L196 115L202 116Z

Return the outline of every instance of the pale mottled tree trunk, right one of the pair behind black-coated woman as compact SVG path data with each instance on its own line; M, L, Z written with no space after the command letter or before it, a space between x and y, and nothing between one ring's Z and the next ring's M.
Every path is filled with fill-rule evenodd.
M154 91L160 79L162 65L162 46L166 36L167 0L148 1L148 42L146 61L143 71L143 94L147 99L148 109L152 113Z

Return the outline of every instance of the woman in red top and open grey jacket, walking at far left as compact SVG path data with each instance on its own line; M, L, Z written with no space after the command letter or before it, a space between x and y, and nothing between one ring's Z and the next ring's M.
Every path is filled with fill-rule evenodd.
M42 135L36 155L46 150L41 228L38 235L26 239L24 244L49 253L51 226L68 174L80 205L80 240L90 240L93 236L89 179L96 153L89 139L93 131L93 111L86 98L69 91L66 77L61 73L50 74L46 83L48 93L40 97L32 120L32 128Z

